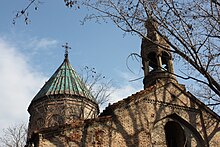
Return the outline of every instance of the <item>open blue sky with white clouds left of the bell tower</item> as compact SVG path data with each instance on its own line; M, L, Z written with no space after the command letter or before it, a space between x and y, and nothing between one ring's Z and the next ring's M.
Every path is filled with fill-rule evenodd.
M143 76L140 63L127 60L140 52L138 36L124 36L111 23L81 25L85 10L67 9L62 0L45 0L37 11L31 7L30 24L19 18L13 25L16 11L28 2L0 2L0 135L9 126L28 123L28 105L63 62L66 42L76 71L88 66L112 80L110 103L142 89L142 79L130 82Z

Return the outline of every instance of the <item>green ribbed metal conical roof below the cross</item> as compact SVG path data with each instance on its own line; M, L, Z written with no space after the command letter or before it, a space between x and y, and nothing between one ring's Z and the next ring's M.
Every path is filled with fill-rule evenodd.
M91 92L72 68L67 57L32 101L52 95L74 95L85 97L95 102Z

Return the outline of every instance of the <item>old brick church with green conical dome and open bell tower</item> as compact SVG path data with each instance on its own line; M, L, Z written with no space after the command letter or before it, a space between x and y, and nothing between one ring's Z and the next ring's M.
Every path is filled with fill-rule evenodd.
M27 147L219 147L220 116L179 84L169 45L146 23L144 89L100 113L69 62L31 101ZM153 41L153 42L152 42ZM68 48L67 46L65 46Z

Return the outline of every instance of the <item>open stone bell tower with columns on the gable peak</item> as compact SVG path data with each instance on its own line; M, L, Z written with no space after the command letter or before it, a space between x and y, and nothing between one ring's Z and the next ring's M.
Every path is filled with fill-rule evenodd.
M156 84L158 80L174 80L174 69L170 46L163 37L157 33L158 24L149 18L145 27L147 29L146 38L142 39L141 57L144 70L144 89Z

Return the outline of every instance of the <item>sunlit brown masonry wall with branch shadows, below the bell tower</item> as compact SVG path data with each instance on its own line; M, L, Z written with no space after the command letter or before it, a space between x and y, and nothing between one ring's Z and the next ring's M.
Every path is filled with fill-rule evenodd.
M166 147L165 126L175 122L188 146L218 147L219 119L201 108L172 84L141 91L109 106L110 113L42 136L41 146ZM73 122L74 124L74 122Z

